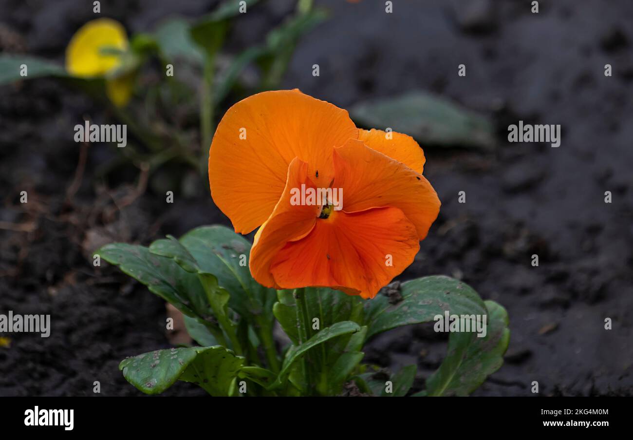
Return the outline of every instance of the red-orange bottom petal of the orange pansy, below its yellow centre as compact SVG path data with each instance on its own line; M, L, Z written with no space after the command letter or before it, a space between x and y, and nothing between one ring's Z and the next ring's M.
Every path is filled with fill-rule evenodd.
M332 287L373 298L413 262L419 249L415 226L398 208L333 211L316 220L308 235L287 243L273 258L270 272L282 289Z

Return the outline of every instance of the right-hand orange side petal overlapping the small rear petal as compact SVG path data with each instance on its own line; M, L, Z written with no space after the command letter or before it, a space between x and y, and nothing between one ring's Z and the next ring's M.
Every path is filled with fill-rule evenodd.
M439 213L440 201L427 179L362 141L350 139L334 149L334 187L342 187L346 212L395 206L413 223L423 240Z

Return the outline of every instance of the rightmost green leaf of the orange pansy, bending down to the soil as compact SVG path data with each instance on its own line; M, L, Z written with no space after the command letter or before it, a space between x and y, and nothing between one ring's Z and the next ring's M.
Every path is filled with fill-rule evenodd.
M510 342L508 313L494 301L486 301L486 307L486 337L477 337L476 332L451 333L448 355L427 379L429 396L468 396L503 365Z

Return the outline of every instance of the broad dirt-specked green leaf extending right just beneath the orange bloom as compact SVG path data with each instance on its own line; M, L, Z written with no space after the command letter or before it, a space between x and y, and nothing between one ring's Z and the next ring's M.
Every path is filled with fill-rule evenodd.
M423 277L401 284L403 299L389 303L383 295L365 301L367 337L402 325L420 324L434 320L436 315L483 315L484 301L468 284L443 275Z

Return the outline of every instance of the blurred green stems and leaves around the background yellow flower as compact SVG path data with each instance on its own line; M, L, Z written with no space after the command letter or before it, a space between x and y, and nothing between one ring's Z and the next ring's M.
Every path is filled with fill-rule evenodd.
M154 32L132 34L118 66L101 77L77 77L44 58L3 53L0 85L53 76L103 102L127 124L134 141L130 148L120 149L115 162L101 168L101 175L126 160L142 164L150 173L177 160L204 174L222 111L250 94L278 88L299 39L327 18L311 0L299 0L295 13L262 35L260 44L237 54L225 52L230 26L241 11L259 1L227 0L197 20L175 16ZM28 68L27 76L20 75L22 65ZM166 74L168 67L173 75ZM107 82L130 77L132 100L113 104L107 98Z

